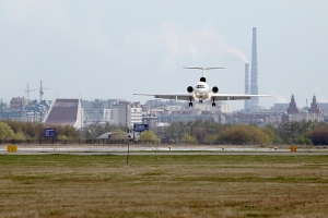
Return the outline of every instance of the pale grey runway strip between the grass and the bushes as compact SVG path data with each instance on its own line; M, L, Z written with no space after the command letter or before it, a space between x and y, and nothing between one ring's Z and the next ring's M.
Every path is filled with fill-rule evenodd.
M291 152L290 146L243 146L243 145L17 145L16 153L7 152L7 145L0 145L0 155L328 155L324 146L298 146Z

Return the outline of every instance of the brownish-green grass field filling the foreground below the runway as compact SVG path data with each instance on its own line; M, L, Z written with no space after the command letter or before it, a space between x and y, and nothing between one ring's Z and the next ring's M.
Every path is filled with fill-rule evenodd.
M327 217L328 156L0 156L0 217Z

